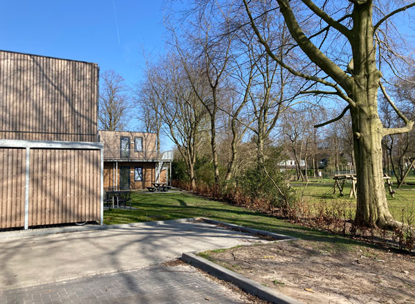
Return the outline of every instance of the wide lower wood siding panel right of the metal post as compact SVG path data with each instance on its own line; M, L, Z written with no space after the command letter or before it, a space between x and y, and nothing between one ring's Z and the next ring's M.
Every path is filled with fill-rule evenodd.
M29 226L100 221L99 150L30 150Z

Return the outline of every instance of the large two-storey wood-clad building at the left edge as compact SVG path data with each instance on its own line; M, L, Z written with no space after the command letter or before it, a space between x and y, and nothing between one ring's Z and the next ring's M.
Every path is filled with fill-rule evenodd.
M102 224L98 64L0 51L0 228Z

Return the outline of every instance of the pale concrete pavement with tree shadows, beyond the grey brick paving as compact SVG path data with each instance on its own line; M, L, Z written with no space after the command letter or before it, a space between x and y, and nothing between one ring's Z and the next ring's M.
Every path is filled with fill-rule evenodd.
M183 252L266 242L205 222L0 240L0 290L140 269Z

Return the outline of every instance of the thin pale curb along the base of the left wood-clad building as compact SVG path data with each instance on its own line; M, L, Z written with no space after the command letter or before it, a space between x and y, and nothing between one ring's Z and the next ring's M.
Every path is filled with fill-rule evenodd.
M50 234L57 234L57 233L71 233L71 232L79 232L79 231L124 229L124 228L139 227L139 226L158 226L158 225L163 225L163 224L194 222L196 220L200 220L200 217L190 217L187 219L178 219L178 220L116 224L116 225L66 226L66 227L40 228L40 229L18 230L18 231L4 231L4 232L0 232L0 240L7 239L7 238L26 238L28 236L34 236L34 235L50 235Z

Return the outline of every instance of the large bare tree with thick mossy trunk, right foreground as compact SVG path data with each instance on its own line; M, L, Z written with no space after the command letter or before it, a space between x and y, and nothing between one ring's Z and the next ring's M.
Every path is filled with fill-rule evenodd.
M395 57L399 60L405 57L399 55L389 43L389 28L385 24L398 12L415 6L415 2L398 7L394 3L400 1L378 1L375 6L372 0L349 0L342 6L338 1L320 1L316 4L311 0L300 0L295 1L295 8L292 6L293 1L276 0L275 3L273 12L277 9L284 17L296 42L293 48L299 48L309 63L320 70L314 74L308 73L284 62L278 50L268 44L264 33L258 29L257 17L252 13L264 15L267 12L252 11L256 7L243 0L250 24L268 55L293 75L320 85L319 89L306 89L302 93L336 96L347 102L340 116L316 127L340 120L350 111L358 177L356 222L367 226L399 225L387 206L382 179L381 141L382 137L390 134L409 132L414 122L404 116L387 95L381 82L385 75L382 75L380 59ZM311 33L306 24L320 24L320 28ZM332 43L333 39L337 39L335 44ZM333 45L338 48L333 48ZM390 60L386 64L398 75L396 65ZM405 123L404 127L383 127L377 106L379 89Z

